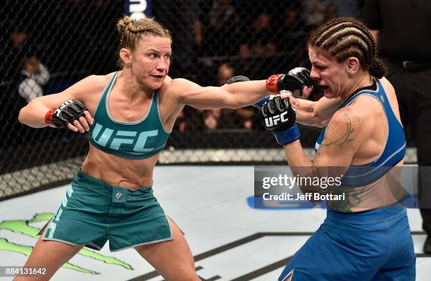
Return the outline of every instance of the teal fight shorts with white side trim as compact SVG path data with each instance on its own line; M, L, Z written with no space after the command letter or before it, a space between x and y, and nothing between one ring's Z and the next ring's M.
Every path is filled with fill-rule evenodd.
M169 220L151 187L113 187L81 170L42 237L100 250L122 249L173 239Z

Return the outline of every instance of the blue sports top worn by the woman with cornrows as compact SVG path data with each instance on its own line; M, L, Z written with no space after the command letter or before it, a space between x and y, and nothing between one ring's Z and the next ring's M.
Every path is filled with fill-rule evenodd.
M382 104L383 110L385 111L387 123L389 125L385 149L379 158L371 163L368 163L367 165L350 166L343 176L342 183L344 186L363 186L368 185L371 182L375 182L380 177L385 175L387 170L395 166L396 163L399 163L399 161L401 161L406 155L406 137L404 136L403 126L399 120L396 119L382 84L374 77L373 81L373 85L358 89L349 97L349 99L339 106L339 108L348 106L361 94L373 96L375 99L380 101L380 104ZM315 146L316 150L320 147L320 144L323 141L325 130L326 127L323 128L323 130L320 132L320 135L318 136Z

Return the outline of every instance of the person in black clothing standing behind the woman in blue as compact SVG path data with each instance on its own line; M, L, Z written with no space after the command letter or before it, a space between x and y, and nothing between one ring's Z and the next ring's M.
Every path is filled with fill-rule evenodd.
M428 0L367 0L363 20L380 46L394 85L408 143L416 144L418 199L431 254L431 4ZM402 20L401 20L402 19Z

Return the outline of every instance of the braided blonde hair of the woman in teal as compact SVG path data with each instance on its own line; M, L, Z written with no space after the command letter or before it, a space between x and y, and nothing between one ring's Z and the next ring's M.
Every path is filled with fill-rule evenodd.
M141 35L154 35L158 37L169 38L172 41L169 30L158 23L154 18L142 18L141 20L132 20L125 15L118 20L118 33L120 35L119 50L122 48L135 51L135 48L141 38ZM124 66L121 58L118 58L120 66Z

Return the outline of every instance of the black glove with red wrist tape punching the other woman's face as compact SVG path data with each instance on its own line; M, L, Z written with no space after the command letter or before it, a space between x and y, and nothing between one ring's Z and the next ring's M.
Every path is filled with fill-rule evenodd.
M322 90L318 87L316 82L310 77L310 70L306 68L293 68L287 74L271 75L266 80L266 89L270 92L289 91L295 97L301 96L304 86L313 86L311 95L316 95Z

